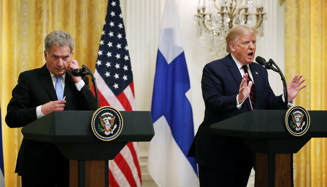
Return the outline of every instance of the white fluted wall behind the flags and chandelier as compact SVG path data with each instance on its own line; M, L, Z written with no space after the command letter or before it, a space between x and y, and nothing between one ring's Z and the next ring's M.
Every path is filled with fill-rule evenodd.
M156 67L159 34L164 0L120 0L133 70L136 110L150 111ZM279 0L264 0L267 21L264 37L257 41L256 56L273 59L284 71L284 6ZM192 108L195 132L204 117L201 92L202 69L216 58L210 54L209 42L197 40L196 22L198 0L177 0L185 58L191 82ZM275 94L283 91L278 73L269 71L269 80ZM286 80L286 82L288 82ZM148 142L140 142L143 186L156 186L147 175ZM253 177L250 178L253 186Z

